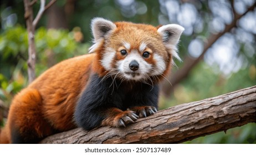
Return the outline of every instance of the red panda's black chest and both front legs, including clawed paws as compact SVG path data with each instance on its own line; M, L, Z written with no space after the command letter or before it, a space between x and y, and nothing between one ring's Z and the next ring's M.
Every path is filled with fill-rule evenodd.
M111 77L104 80L96 74L90 77L76 105L76 125L85 130L100 125L121 127L157 112L157 85L152 88L147 84L137 84L127 91L127 84L116 81L117 87L112 82Z

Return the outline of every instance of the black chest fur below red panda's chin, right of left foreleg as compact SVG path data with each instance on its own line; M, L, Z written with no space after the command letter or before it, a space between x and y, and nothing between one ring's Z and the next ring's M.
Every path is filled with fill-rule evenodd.
M94 92L98 92L100 96L103 96L101 99L105 99L105 101L100 102L104 102L103 104L106 106L115 106L121 110L149 104L146 102L151 102L150 105L156 106L154 102L158 100L157 84L149 85L136 81L114 80L112 77L103 79L94 74L91 76L90 84L86 89L91 90L92 87L95 89Z

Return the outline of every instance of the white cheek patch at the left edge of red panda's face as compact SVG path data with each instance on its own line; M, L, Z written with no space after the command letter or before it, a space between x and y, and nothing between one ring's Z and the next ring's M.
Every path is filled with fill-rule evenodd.
M112 48L107 48L105 53L103 54L103 59L101 60L101 64L106 70L111 70L111 63L115 57L115 50Z

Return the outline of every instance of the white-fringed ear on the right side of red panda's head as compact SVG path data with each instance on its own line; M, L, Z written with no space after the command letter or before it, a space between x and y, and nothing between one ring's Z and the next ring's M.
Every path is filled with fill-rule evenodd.
M176 46L183 30L185 29L181 25L168 24L159 27L157 32L162 36L164 44Z

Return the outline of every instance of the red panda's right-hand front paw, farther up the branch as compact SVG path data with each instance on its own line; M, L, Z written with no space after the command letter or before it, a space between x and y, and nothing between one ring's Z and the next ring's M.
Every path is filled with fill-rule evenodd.
M135 111L139 118L147 117L157 112L156 107L153 106L136 106L128 110Z

